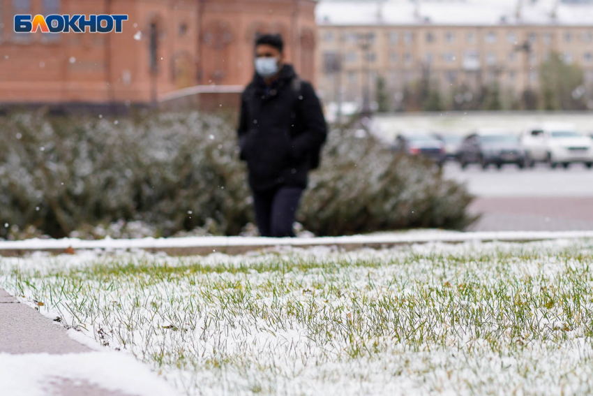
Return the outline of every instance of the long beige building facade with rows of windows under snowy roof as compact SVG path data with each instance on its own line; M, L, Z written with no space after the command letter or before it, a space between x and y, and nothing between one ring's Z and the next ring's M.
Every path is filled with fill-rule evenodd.
M378 18L373 24L356 18L333 23L318 13L317 73L326 101L340 94L343 101L360 102L367 84L373 100L380 77L394 102L423 79L443 93L471 95L497 84L506 96L519 96L539 87L539 66L554 52L579 64L585 83L593 84L593 24L510 23L504 15L482 25Z

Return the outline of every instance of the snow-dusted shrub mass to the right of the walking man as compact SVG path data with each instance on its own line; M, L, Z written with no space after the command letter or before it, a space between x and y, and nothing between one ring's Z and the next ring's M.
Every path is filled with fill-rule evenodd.
M300 217L317 235L463 228L472 197L428 161L396 155L363 130L332 131Z

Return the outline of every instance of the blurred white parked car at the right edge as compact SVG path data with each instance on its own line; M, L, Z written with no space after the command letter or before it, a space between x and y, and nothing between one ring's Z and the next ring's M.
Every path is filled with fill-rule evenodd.
M542 124L526 129L521 142L527 153L527 162L546 162L552 168L562 164L585 163L593 167L593 140L576 131L571 124Z

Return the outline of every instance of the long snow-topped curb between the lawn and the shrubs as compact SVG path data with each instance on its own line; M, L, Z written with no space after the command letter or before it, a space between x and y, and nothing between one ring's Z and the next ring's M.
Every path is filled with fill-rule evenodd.
M387 233L345 237L263 238L263 237L182 237L142 238L136 240L24 240L0 242L0 256L25 256L36 251L50 254L73 254L77 250L143 250L164 252L170 256L203 256L214 252L244 254L248 251L277 247L338 247L345 251L361 248L382 249L411 244L465 242L539 242L546 240L593 239L593 231L534 231L534 232L476 232L476 233Z

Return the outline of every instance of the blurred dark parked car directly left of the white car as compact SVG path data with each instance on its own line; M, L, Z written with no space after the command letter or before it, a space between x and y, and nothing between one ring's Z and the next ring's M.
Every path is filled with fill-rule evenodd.
M505 163L515 163L519 168L525 168L525 149L521 146L519 137L511 133L498 131L478 131L467 136L459 152L461 168L470 163L477 163L483 169L490 164L502 168Z

